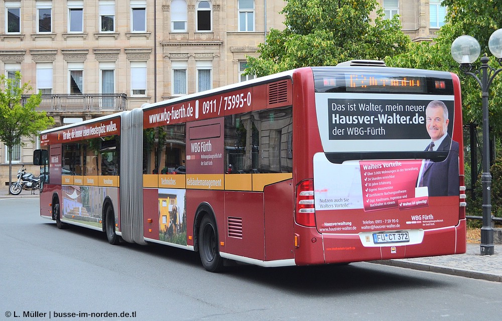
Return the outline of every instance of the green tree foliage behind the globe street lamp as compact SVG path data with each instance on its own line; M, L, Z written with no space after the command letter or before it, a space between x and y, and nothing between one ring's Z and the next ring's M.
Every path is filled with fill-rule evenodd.
M388 66L421 69L444 70L456 73L461 79L463 121L482 123L481 88L477 81L465 75L457 62L451 57L451 44L459 36L469 35L476 38L481 45L481 54L487 53L488 39L497 29L502 27L502 0L443 0L448 8L446 24L437 32L433 43L413 43L407 53L385 58ZM489 65L500 68L494 57L490 57ZM480 66L479 60L473 65ZM480 75L478 75L480 77ZM489 120L492 133L502 133L502 75L494 78L489 92Z

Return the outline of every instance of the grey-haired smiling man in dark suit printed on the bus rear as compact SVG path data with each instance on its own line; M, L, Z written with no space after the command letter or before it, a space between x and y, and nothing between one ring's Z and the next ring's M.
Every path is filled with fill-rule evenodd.
M449 151L443 162L424 159L417 187L427 186L429 196L459 195L458 142L451 139L448 129L448 109L440 100L433 100L425 109L427 132L431 142L426 151Z

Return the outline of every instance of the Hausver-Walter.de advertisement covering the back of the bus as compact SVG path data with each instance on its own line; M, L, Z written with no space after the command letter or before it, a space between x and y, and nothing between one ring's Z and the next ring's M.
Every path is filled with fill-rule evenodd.
M453 96L372 96L316 95L324 147L324 152L314 156L315 208L320 230L361 232L366 223L371 223L371 229L380 226L382 230L454 224L456 217L448 212L455 208L451 205L458 203L459 195L459 145L451 139ZM369 156L335 164L325 155L412 151L443 151L447 156L441 162ZM373 211L382 211L382 219L376 222L381 224L368 216Z

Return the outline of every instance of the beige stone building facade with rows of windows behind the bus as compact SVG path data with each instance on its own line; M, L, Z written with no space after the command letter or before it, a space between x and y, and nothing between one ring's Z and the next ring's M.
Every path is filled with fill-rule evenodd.
M379 0L414 41L429 40L439 0ZM0 0L0 73L20 71L56 125L235 83L246 55L283 29L283 0ZM435 7L434 7L435 8ZM30 166L35 138L13 152ZM8 155L0 142L0 190Z

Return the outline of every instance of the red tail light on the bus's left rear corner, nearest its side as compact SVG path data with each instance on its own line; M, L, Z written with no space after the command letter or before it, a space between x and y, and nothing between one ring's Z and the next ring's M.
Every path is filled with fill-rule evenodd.
M295 212L297 224L315 227L314 180L305 180L296 187Z

